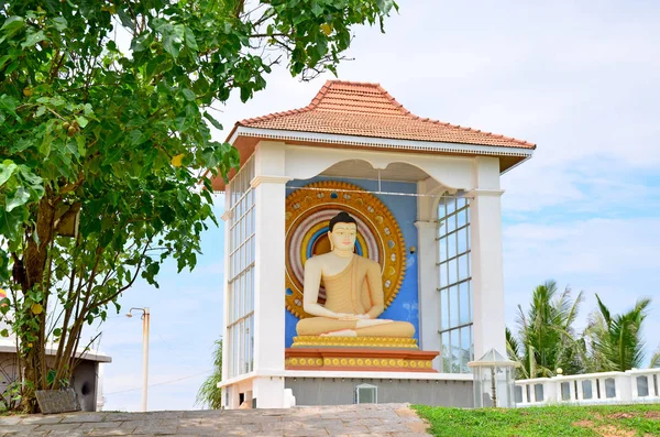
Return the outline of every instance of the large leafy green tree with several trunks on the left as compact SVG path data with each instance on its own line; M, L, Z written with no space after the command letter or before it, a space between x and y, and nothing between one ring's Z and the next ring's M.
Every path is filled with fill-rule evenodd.
M304 79L336 72L352 26L382 29L393 7L0 2L0 310L19 339L23 411L68 379L82 327L119 310L136 277L157 286L167 258L195 266L213 219L209 177L239 164L212 140L209 107L234 90L249 100L278 62Z

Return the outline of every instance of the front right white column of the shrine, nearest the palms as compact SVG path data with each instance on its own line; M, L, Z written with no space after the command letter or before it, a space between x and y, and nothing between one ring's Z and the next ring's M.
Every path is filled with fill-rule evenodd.
M476 188L470 193L474 358L492 348L506 357L499 163L476 157L474 170Z

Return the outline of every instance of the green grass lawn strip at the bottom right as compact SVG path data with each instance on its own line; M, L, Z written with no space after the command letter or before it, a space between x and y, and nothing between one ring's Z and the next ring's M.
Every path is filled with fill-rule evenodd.
M461 409L414 405L438 437L660 436L660 405Z

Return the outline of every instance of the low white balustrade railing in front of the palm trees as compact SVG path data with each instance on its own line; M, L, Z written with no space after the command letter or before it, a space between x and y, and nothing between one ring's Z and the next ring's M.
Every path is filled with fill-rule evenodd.
M516 381L516 406L660 403L660 369Z

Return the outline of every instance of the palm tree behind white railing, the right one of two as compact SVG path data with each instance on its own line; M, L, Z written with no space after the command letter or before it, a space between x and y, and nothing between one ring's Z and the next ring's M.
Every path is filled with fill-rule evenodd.
M590 370L623 372L640 368L644 360L641 326L651 299L641 298L628 313L614 316L597 294L596 299L598 301L598 310L592 314L584 331L584 337L590 342L592 367Z

